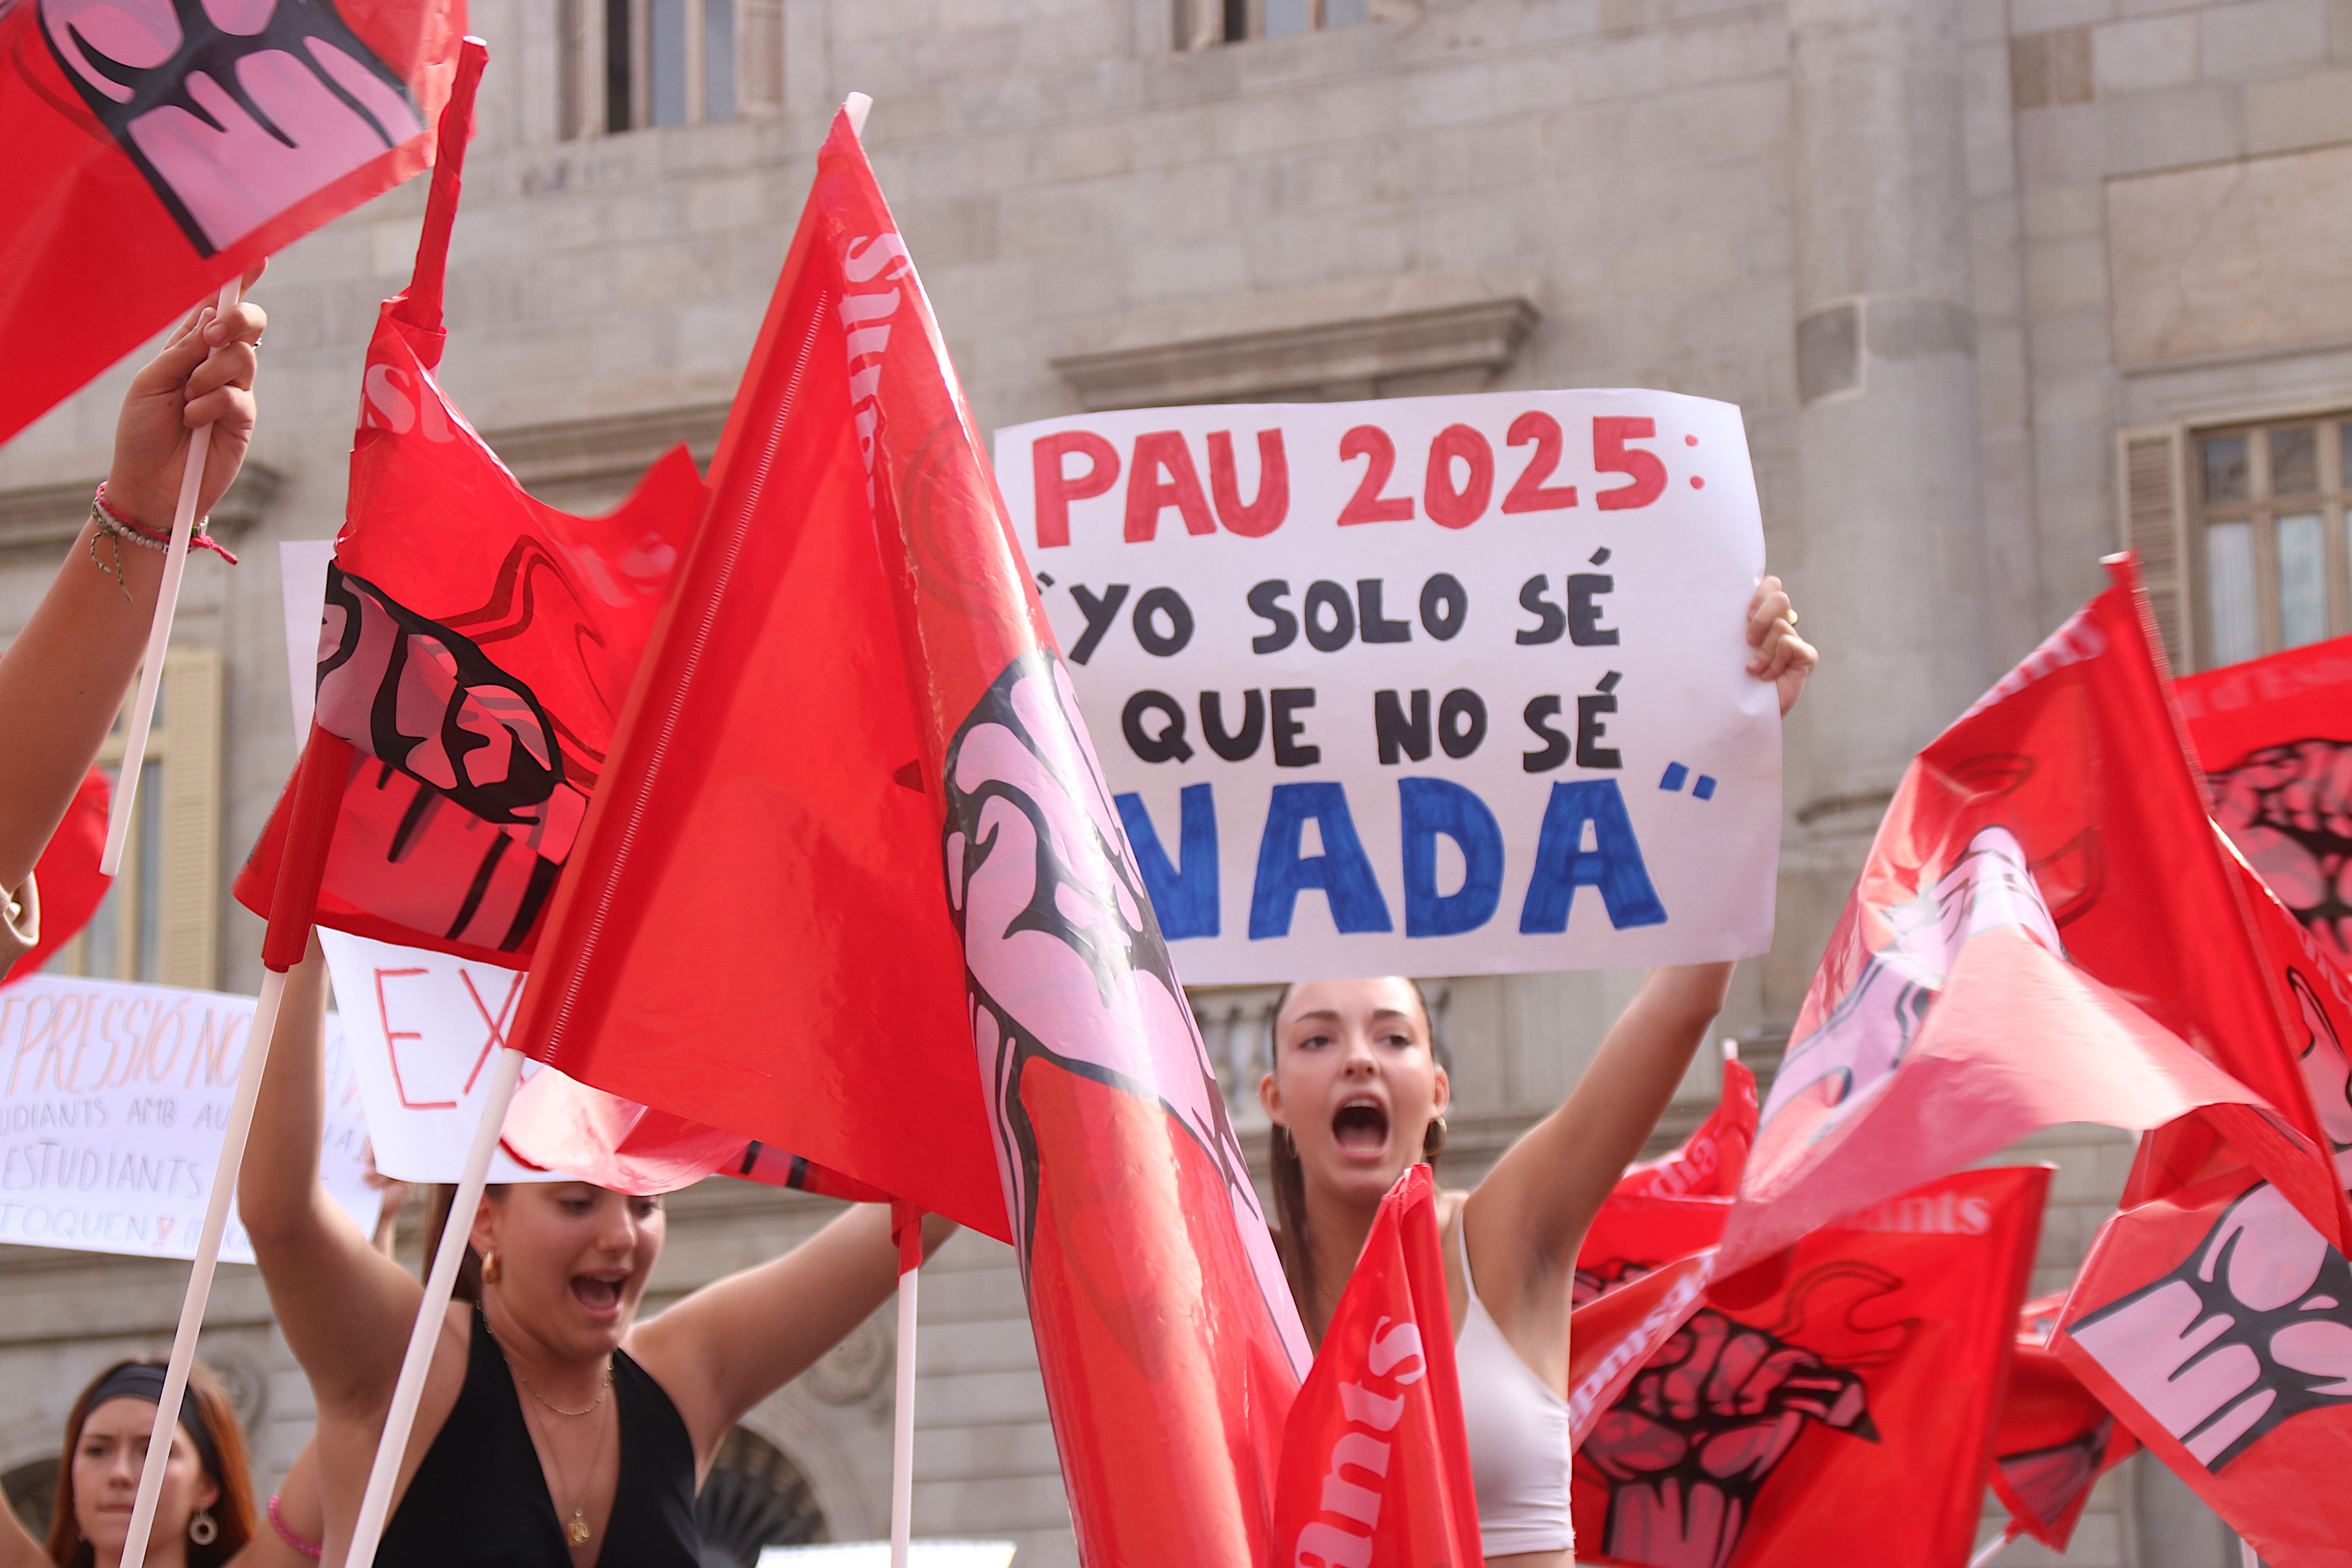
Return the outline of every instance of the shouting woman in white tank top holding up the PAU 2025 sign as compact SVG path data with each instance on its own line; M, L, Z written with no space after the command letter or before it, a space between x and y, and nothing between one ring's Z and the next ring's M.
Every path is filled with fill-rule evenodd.
M1788 715L1818 656L1778 578L1748 607L1748 672ZM1566 1568L1569 1300L1576 1248L1642 1152L1724 1004L1731 964L1653 969L1569 1100L1470 1192L1439 1197L1463 1427L1489 1568ZM1277 1246L1308 1333L1322 1340L1381 1197L1446 1135L1446 1072L1406 978L1310 980L1275 1009Z

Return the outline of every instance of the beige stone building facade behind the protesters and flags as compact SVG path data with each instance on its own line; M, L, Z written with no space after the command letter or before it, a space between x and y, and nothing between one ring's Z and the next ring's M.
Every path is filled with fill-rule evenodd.
M1719 1025L1766 1063L1905 759L2103 552L2143 550L2185 668L2352 630L2352 0L475 0L473 28L445 383L574 510L668 444L708 456L849 89L983 428L1472 388L1738 402L1773 569L1830 656L1788 731L1778 940ZM221 512L249 555L191 571L141 759L155 870L92 971L256 985L226 884L294 755L268 545L341 517L360 348L421 209L421 181L386 195L259 292L263 425ZM0 628L103 473L125 374L0 451ZM1564 1095L1630 985L1437 980L1454 1175ZM1265 1001L1200 997L1244 1119ZM2025 1154L2060 1164L2056 1288L2129 1145ZM818 1218L684 1194L659 1284ZM0 1469L54 1455L106 1356L165 1342L174 1281L0 1260ZM1073 1561L1009 1253L957 1239L924 1300L920 1528ZM209 1349L285 1465L308 1396L249 1276ZM884 1523L884 1352L877 1324L748 1422L833 1537ZM2234 1554L2133 1465L2072 1561Z

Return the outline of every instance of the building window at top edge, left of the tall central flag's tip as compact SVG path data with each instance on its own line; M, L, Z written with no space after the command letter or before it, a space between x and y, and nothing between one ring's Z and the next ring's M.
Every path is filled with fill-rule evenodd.
M783 99L783 0L562 0L564 136L715 125Z

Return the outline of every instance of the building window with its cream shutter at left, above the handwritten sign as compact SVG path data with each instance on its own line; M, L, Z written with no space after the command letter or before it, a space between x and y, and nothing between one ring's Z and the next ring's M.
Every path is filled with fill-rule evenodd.
M118 717L99 750L99 766L115 780L122 778L122 731ZM139 759L122 870L99 912L56 950L47 971L212 990L219 985L219 898L221 654L172 649Z

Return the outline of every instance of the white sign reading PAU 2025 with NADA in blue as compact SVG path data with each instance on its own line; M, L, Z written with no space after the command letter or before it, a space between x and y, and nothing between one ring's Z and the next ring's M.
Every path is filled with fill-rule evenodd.
M1479 393L1084 414L997 480L1190 983L1771 943L1740 411Z

